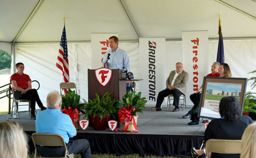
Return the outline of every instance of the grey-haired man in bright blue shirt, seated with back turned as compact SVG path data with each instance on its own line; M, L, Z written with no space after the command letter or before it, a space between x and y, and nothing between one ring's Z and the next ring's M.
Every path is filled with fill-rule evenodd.
M36 115L36 133L61 134L67 144L69 154L81 154L82 158L90 158L91 149L88 140L69 140L76 136L76 128L67 114L61 113L61 96L56 90L47 95L47 110L39 111ZM61 157L64 147L38 147L38 153L44 157Z

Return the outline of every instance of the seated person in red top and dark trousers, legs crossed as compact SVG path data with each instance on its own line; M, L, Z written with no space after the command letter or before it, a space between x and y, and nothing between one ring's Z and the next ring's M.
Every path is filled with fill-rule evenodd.
M31 119L35 120L36 103L41 110L45 110L46 108L42 104L36 89L32 89L29 75L23 73L24 64L22 62L18 62L16 64L16 69L18 72L13 74L10 78L10 82L12 83L14 89L13 96L15 99L29 99L31 101Z

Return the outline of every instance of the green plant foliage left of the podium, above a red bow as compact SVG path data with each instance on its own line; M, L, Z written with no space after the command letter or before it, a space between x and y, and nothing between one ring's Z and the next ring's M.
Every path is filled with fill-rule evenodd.
M68 89L67 94L61 95L62 105L61 108L67 108L70 106L72 110L77 108L78 111L83 110L84 103L80 103L80 95L76 94L75 90ZM82 111L83 112L83 111Z

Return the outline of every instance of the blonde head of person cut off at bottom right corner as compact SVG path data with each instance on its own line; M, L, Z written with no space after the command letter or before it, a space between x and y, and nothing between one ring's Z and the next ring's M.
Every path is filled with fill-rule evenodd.
M246 127L242 136L242 152L241 158L256 157L256 123Z

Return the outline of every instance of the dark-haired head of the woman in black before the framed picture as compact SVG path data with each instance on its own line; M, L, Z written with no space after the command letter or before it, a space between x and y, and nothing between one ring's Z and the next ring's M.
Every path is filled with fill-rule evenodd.
M223 97L220 100L220 116L227 121L236 121L241 118L241 110L236 97Z

